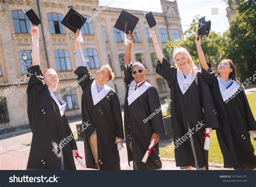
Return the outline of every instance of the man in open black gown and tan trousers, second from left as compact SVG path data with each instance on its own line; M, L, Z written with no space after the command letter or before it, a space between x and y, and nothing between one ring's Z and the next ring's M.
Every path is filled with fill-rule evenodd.
M105 85L114 75L109 65L102 66L92 77L85 65L76 32L75 60L77 80L82 88L82 121L87 168L120 170L117 141L124 139L123 120L118 95ZM95 59L97 60L97 59Z

